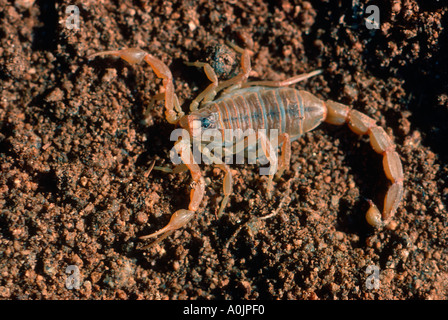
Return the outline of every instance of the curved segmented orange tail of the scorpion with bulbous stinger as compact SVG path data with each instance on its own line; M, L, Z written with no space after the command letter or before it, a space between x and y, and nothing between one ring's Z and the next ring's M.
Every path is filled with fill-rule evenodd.
M384 199L384 209L380 214L376 205L369 201L370 208L366 213L367 222L374 227L387 225L397 211L403 198L403 166L400 156L395 151L395 144L383 128L375 120L346 105L327 100L327 117L325 122L335 125L347 123L350 129L359 135L368 134L370 144L377 153L383 155L383 167L386 177L392 182Z

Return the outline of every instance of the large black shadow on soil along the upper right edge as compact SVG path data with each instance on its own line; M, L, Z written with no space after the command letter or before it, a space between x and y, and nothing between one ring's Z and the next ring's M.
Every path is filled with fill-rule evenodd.
M428 11L436 6L426 5ZM448 26L448 15L442 18L443 26ZM448 148L448 102L443 102L443 95L448 92L448 31L442 29L438 43L429 45L428 35L418 32L415 38L408 40L408 48L417 44L420 48L419 56L406 61L392 60L388 68L382 68L381 59L388 51L387 46L392 35L375 33L374 38L368 42L365 50L365 59L369 63L370 72L378 78L387 79L395 76L404 80L404 89L407 92L407 101L403 106L411 111L409 118L413 130L419 130L423 134L423 143L430 146L440 156L442 164L447 163ZM373 54L382 51L381 55ZM394 70L397 70L396 72ZM445 104L445 105L443 105Z

